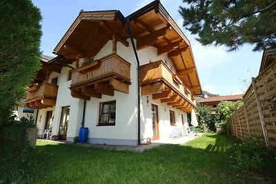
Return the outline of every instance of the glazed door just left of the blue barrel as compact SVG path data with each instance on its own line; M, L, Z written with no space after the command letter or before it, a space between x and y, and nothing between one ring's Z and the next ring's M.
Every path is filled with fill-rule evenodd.
M59 123L59 138L66 139L68 122L69 122L70 106L61 109L61 120Z

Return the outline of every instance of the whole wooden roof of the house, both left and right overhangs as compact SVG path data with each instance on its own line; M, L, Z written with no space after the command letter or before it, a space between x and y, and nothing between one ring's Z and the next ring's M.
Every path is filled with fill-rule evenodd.
M158 55L168 54L184 85L193 94L202 93L190 41L159 0L128 17L119 10L80 12L54 52L62 55L63 61L72 63L83 57L95 57L114 37L128 47L128 22L137 50L153 46Z

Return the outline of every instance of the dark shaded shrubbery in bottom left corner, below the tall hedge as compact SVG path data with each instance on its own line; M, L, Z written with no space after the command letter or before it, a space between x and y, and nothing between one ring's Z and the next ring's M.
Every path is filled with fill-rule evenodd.
M25 172L34 152L26 138L28 127L34 127L32 116L10 121L0 130L0 183L32 183Z

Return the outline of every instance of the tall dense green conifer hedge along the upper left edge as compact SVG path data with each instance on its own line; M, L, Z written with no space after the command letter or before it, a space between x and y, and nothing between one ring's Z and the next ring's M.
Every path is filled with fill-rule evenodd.
M41 14L30 0L0 1L0 126L40 68Z

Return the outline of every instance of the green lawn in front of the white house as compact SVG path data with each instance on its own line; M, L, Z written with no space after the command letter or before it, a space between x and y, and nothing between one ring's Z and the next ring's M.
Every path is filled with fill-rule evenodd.
M30 172L36 183L258 183L230 166L226 150L233 141L204 134L140 153L39 140Z

